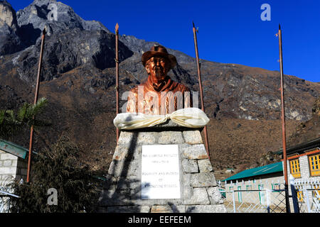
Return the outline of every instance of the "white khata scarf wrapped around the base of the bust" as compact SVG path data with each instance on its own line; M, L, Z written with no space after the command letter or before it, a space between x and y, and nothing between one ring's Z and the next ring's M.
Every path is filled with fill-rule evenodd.
M210 121L208 116L198 108L178 109L166 115L146 115L142 113L122 113L117 114L113 123L119 129L146 128L159 125L168 119L174 121L179 126L187 128L201 128Z

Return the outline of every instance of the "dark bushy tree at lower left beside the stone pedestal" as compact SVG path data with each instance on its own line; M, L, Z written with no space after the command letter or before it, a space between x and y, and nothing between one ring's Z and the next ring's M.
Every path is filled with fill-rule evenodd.
M20 196L11 199L11 212L95 211L98 182L95 172L78 162L79 153L79 148L63 134L49 149L36 155L31 182L9 184L14 194ZM52 189L57 192L56 205L48 202Z

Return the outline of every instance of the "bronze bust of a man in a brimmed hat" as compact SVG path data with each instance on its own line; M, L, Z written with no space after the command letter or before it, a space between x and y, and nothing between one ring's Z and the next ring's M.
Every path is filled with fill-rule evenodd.
M149 76L130 90L127 112L164 115L192 106L190 89L167 75L176 66L176 57L166 48L154 45L142 55L142 64Z

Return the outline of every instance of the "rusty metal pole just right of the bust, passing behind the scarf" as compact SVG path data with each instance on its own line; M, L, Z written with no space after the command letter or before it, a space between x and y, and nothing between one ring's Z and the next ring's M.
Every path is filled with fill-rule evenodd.
M202 89L202 82L201 82L200 62L199 62L199 53L198 53L198 42L197 42L197 35L196 35L197 30L194 27L194 23L193 22L192 22L192 24L193 24L194 48L196 50L196 61L197 61L197 69L198 69L198 82L199 82L199 89L200 89L201 110L204 112L205 109L204 109L204 104L203 104L203 89ZM208 155L209 160L210 160L207 126L204 126L203 133L204 133L204 136L205 136L207 155Z

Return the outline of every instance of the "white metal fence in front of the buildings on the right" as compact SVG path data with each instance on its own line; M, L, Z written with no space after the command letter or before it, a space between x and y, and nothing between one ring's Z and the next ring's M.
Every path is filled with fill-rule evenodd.
M285 189L225 190L218 182L228 213L285 213ZM320 213L320 181L290 177L289 207L292 213ZM284 187L284 184L282 184ZM290 193L291 192L291 193Z

